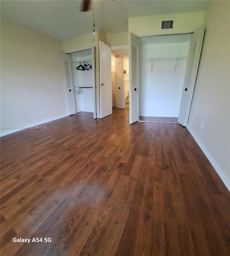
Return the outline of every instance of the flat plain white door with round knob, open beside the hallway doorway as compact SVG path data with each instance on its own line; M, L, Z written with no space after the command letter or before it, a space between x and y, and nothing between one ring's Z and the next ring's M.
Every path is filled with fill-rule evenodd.
M99 41L100 118L112 114L111 48Z

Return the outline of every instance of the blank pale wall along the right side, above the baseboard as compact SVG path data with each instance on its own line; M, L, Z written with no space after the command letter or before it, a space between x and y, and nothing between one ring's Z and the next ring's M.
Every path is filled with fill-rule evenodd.
M209 1L188 128L230 190L229 8Z

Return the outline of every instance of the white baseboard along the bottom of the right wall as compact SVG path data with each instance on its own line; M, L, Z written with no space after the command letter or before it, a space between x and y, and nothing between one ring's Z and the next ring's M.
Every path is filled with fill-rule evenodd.
M199 147L201 148L201 150L204 152L204 155L206 155L207 159L210 161L211 165L213 166L213 168L215 169L215 171L217 172L217 174L220 176L220 178L222 179L222 181L224 182L225 186L227 187L227 189L230 191L230 179L226 176L226 174L222 171L222 169L220 168L220 166L216 163L216 161L213 159L213 157L210 155L210 153L208 152L208 150L206 149L206 147L204 147L203 143L198 139L198 137L195 135L195 133L193 132L193 130L189 127L189 125L187 125L187 129L189 130L189 132L191 133L191 135L193 136L194 140L197 142L197 144L199 145Z

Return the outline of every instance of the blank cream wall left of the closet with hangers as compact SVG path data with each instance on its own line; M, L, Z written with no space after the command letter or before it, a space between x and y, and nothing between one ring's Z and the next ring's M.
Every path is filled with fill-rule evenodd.
M60 41L1 20L1 126L27 127L67 115L61 51ZM1 129L1 136L15 131Z

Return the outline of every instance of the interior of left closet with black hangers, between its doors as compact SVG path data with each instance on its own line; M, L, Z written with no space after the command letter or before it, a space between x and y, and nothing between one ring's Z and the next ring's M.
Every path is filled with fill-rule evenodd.
M93 117L94 97L91 49L74 52L70 55L72 56L72 74L77 115Z

